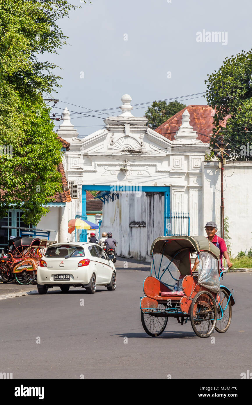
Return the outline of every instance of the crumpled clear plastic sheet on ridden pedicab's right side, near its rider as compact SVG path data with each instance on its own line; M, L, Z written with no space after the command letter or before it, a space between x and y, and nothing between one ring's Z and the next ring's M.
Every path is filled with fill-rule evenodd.
M210 252L199 253L198 283L210 291L220 293L218 259Z

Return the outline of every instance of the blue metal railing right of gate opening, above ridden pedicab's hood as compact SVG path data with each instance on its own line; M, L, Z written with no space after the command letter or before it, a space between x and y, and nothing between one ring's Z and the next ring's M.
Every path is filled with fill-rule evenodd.
M190 215L188 212L169 212L166 215L166 236L190 235Z

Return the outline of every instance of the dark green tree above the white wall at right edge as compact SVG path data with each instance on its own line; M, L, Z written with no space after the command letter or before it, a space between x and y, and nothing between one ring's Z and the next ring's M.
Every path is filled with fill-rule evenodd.
M212 149L220 135L234 159L252 160L252 50L225 58L205 84L205 97L215 109Z

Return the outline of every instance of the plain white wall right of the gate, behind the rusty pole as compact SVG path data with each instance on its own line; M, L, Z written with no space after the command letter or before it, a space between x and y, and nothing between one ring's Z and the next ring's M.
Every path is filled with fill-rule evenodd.
M220 169L205 162L203 172L203 226L216 222L220 232ZM224 166L224 217L229 217L232 256L252 247L252 162L228 162ZM202 232L205 230L202 227ZM219 233L220 234L220 233Z

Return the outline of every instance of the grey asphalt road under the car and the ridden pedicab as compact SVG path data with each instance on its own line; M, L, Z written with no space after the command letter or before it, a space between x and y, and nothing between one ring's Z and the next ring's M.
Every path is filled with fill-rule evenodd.
M240 379L252 371L252 273L224 275L236 304L229 330L213 333L211 343L190 322L181 326L172 318L160 337L146 335L139 297L149 266L129 260L125 269L119 260L116 268L115 291L71 288L0 301L0 372L35 379Z

